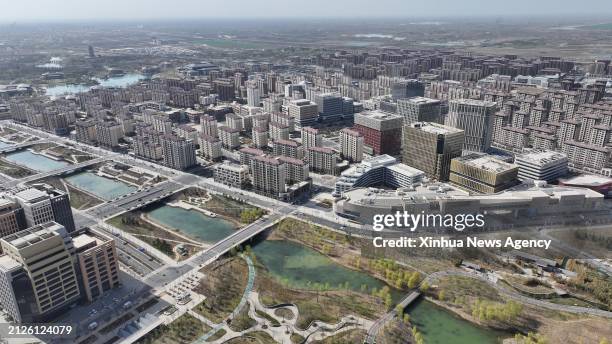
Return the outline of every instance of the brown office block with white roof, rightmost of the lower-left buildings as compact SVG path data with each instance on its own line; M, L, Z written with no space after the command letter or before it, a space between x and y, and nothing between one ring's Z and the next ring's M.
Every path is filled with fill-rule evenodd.
M119 286L119 263L115 241L96 233L72 238L77 257L81 287L87 301Z

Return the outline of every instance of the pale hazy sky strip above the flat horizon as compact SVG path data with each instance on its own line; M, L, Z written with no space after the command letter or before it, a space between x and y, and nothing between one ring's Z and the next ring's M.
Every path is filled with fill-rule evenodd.
M612 15L611 0L0 0L0 21Z

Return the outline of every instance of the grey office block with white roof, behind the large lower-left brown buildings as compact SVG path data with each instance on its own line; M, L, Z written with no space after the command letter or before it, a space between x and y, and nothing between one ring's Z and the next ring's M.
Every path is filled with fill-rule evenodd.
M27 227L55 221L69 232L75 230L68 194L46 184L17 191L9 198L17 202L25 215Z

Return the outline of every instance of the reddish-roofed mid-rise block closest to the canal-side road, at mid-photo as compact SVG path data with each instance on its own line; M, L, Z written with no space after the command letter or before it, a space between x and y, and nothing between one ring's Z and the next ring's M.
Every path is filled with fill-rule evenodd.
M267 156L254 156L250 164L253 190L274 198L282 197L286 191L287 166Z

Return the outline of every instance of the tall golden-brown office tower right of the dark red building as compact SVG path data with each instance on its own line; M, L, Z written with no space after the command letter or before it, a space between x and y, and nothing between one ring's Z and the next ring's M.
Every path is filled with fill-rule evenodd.
M463 130L438 123L416 122L404 127L403 162L428 177L448 180L451 159L461 156Z

